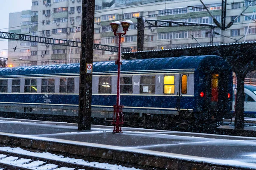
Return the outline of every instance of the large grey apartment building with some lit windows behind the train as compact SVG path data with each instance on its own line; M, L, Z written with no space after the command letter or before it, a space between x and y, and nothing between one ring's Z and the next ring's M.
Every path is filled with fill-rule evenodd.
M205 0L204 3L220 22L221 0L210 2ZM146 27L144 50L198 46L198 42L201 45L209 45L211 36L213 36L213 44L255 40L255 5L256 0L227 0L227 23L239 15L244 8L250 7L235 20L233 26L225 31L220 28L211 30L207 26L169 26L164 22L162 26L167 27ZM214 24L198 0L96 0L95 9L94 43L117 46L117 37L113 35L109 23L116 20L131 20L133 24L127 35L122 37L122 47L132 48L133 51L137 51L137 17ZM11 17L13 16L10 15L10 20L12 20ZM145 24L145 26L150 25ZM29 30L23 26L21 33L80 41L81 0L32 0L28 27ZM198 42L192 39L192 36ZM11 41L9 45L12 46ZM33 43L29 48L31 55L26 65L80 61L79 48L39 43ZM115 52L94 51L94 61L112 60L116 56ZM19 65L25 64L20 62Z

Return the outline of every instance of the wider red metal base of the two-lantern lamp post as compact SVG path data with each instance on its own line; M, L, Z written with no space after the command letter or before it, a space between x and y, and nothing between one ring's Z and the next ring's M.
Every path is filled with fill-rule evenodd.
M122 125L124 124L123 118L124 115L122 113L123 105L114 105L114 114L113 114L113 133L122 133Z

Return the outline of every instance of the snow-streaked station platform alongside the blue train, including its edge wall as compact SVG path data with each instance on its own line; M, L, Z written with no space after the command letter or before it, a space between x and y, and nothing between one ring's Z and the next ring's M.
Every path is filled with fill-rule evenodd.
M166 169L256 169L256 138L0 119L0 143ZM186 168L185 168L186 167ZM221 169L222 170L222 169Z

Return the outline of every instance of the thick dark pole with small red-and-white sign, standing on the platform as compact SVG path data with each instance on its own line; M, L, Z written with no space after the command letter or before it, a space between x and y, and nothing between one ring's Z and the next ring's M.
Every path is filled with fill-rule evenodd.
M93 80L93 30L95 0L83 0L78 130L90 130Z

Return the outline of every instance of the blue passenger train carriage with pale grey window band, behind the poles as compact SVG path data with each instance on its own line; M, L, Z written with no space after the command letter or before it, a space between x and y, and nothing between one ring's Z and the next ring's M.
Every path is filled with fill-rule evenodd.
M0 69L5 117L77 122L79 63ZM93 63L92 117L112 119L117 65ZM121 104L126 125L169 127L219 122L232 109L232 72L217 56L125 60Z

